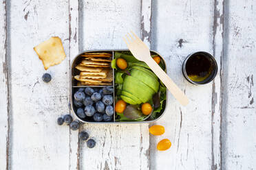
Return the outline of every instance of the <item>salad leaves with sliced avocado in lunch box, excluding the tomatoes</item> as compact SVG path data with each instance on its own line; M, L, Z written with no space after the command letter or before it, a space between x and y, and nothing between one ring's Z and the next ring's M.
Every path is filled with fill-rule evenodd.
M152 57L158 55L152 55ZM128 66L121 70L116 66L118 58L124 59ZM167 88L158 80L145 62L134 58L129 51L116 51L111 62L115 70L115 100L122 99L127 103L125 111L116 113L116 121L144 121L153 120L164 111L167 98ZM164 62L159 66L165 70ZM151 114L142 114L141 104L149 103L153 110Z

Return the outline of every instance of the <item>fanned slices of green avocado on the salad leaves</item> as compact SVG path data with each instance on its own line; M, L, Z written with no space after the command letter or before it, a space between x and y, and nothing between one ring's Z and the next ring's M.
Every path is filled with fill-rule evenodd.
M149 69L133 66L131 75L125 77L120 96L128 104L146 103L158 92L158 77Z

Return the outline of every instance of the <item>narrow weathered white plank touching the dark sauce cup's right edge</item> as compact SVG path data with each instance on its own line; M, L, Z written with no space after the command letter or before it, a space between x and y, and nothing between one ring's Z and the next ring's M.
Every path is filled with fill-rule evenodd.
M222 81L223 81L223 35L224 0L214 1L213 56L219 70L213 80L211 101L211 169L221 169L222 165Z

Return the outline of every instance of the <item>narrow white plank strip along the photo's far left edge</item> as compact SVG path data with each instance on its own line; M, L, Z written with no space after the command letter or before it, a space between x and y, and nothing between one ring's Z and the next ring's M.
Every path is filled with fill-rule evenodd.
M7 5L0 3L0 167L8 169L9 164L9 90L8 90L8 54L7 54Z

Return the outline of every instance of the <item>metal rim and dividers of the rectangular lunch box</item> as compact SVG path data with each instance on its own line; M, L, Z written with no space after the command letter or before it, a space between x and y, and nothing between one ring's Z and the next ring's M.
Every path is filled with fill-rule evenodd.
M89 51L83 51L82 53L79 53L75 58L74 60L72 61L72 65L71 65L71 76L70 76L70 102L71 102L71 110L72 112L76 115L76 118L83 122L83 123L150 123L150 122L153 122L153 121L156 121L158 119L160 119L160 117L162 117L162 115L164 114L165 112L165 108L166 108L166 104L167 104L167 99L168 99L168 96L167 96L167 99L165 100L165 104L163 104L162 106L162 110L160 113L158 113L158 117L156 119L151 119L151 117L149 117L148 119L146 119L145 121L116 121L116 112L114 112L114 120L112 120L111 122L105 122L105 121L101 121L101 122L95 122L95 121L92 121L90 119L81 119L78 117L78 115L76 114L76 107L74 106L74 102L73 102L73 97L74 97L74 93L76 91L76 88L81 88L81 87L104 87L104 86L76 86L76 83L77 83L77 80L74 79L74 76L77 75L79 73L79 71L75 68L75 66L80 63L82 60L83 60L83 56L81 56L82 54L84 53L89 53L89 52L93 52L93 53L100 53L100 52L106 52L106 53L111 53L112 54L112 60L114 59L114 53L118 51L118 52L122 52L122 51L129 51L129 49L117 49L117 50L89 50ZM159 53L157 53L156 51L153 51L151 50L150 51L151 55L153 54L157 54L158 56L160 56ZM162 61L164 62L164 65L165 65L165 68L167 68L166 66L166 62L164 61L164 58L162 58L162 56L160 56L160 58L162 59ZM166 71L166 69L165 69ZM113 86L114 88L114 77L115 77L115 71L113 69L113 84L111 86ZM108 85L109 86L109 85ZM166 92L167 93L167 92ZM168 95L168 93L166 94ZM114 108L115 108L115 91L113 93L113 98L114 98Z

